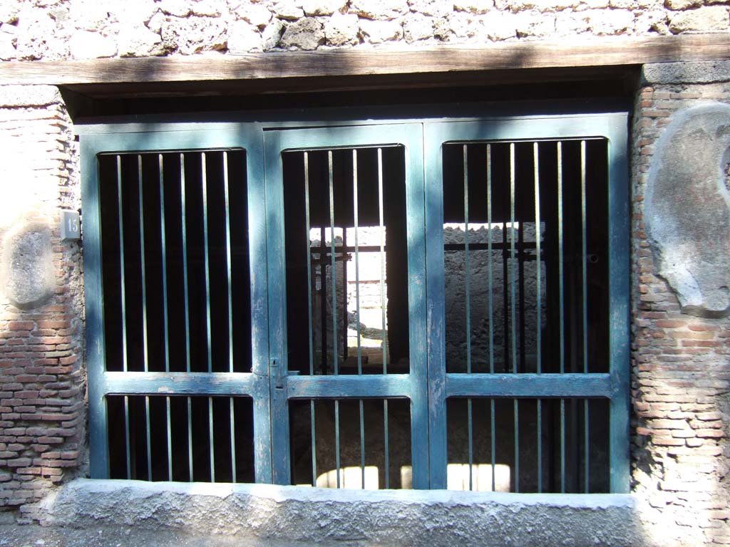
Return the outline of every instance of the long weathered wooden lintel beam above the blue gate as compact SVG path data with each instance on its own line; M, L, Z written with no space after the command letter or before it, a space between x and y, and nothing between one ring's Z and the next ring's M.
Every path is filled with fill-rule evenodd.
M729 33L686 34L584 42L508 42L479 48L443 46L421 50L317 50L89 61L10 61L0 63L0 82L46 85L250 82L621 66L728 58Z

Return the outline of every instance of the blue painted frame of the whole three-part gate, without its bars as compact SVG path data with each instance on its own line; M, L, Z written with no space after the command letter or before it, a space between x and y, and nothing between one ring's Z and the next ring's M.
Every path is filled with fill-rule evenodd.
M290 484L288 400L406 397L412 408L415 488L446 486L447 397L588 397L610 400L610 489L629 490L629 194L627 115L411 118L353 123L93 125L81 139L91 476L109 476L107 395L252 397L255 481ZM603 137L609 141L610 373L446 373L441 147L447 142ZM281 152L399 144L406 149L410 373L288 376ZM99 206L100 153L242 147L247 153L251 373L116 373L104 370ZM264 207L261 205L265 204ZM264 212L264 214L262 214ZM515 377L519 376L519 377Z

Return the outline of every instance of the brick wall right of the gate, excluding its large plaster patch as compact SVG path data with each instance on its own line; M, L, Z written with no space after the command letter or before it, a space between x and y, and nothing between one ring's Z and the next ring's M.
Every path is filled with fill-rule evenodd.
M664 545L730 544L730 321L680 311L642 217L662 128L710 100L730 102L730 83L646 85L632 126L632 489L648 535Z

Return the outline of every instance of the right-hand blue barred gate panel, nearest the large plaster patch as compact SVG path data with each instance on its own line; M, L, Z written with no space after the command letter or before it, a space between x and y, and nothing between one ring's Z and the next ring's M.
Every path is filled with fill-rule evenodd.
M626 115L424 150L431 488L628 492Z

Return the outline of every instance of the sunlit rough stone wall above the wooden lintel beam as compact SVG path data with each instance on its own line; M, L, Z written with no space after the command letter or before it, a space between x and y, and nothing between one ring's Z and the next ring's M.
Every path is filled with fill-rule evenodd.
M20 0L0 60L727 31L727 0Z

